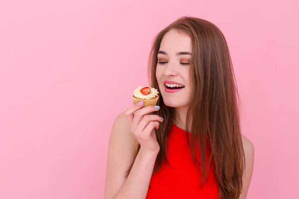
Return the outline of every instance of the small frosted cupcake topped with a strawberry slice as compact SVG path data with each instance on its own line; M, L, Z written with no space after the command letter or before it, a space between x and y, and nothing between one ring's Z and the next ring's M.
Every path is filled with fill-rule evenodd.
M150 87L138 87L134 91L134 95L132 96L133 103L138 103L139 101L144 101L144 106L148 105L156 105L159 97L158 91L154 88Z

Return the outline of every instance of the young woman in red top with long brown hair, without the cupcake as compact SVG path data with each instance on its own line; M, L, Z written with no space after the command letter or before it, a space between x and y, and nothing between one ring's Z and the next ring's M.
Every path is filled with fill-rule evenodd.
M254 147L240 131L226 40L211 22L182 17L149 56L157 106L135 104L111 133L105 199L245 199Z

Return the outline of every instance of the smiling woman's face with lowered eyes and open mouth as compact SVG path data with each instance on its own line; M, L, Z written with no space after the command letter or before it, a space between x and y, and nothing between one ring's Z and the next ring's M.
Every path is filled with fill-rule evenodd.
M187 107L190 100L191 38L177 30L168 31L157 54L156 79L165 105Z

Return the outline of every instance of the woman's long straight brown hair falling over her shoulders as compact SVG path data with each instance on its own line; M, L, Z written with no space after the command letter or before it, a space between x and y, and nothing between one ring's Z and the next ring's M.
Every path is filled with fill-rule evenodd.
M200 18L182 17L168 25L154 38L149 55L149 81L154 88L158 88L155 77L157 53L163 36L171 29L187 33L192 41L192 93L185 125L186 132L192 132L189 146L194 164L201 169L202 185L207 169L212 164L219 187L219 198L238 199L243 187L245 158L238 92L226 39L217 26ZM177 116L173 107L164 104L161 95L157 104L160 106L158 114L164 121L156 129L160 151L154 173L163 163L167 163L167 135L176 119L173 116ZM195 156L196 144L200 160ZM207 144L211 149L211 157L206 157Z

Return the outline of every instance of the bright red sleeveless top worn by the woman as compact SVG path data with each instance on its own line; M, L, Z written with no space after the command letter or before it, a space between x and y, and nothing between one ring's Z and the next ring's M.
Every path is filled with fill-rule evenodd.
M190 133L188 136L190 138ZM219 190L212 166L201 187L201 171L192 160L186 131L173 124L167 142L170 166L165 164L152 175L147 199L218 199ZM196 155L199 157L199 152ZM208 149L207 164L210 155L211 151Z

